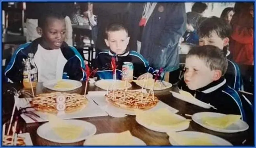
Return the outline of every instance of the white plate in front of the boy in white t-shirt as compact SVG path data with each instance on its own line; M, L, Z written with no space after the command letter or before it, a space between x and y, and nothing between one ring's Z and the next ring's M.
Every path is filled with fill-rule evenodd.
M54 88L54 86L57 84L58 81L64 81L67 83L72 84L74 87L72 88ZM69 90L74 90L82 86L82 83L80 81L75 81L75 80L69 80L69 79L62 79L62 80L50 80L46 81L43 83L43 86L55 90L55 91L69 91Z

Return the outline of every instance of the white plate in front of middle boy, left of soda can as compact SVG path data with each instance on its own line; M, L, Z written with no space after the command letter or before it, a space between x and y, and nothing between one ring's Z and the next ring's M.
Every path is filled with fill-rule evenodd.
M112 88L114 82L116 84L118 84L118 83L122 83L123 84L123 85L121 84L122 87L116 87L117 90L125 89L125 87L124 87L125 81L122 81L122 80L115 80L115 81L112 80L112 79L109 79L109 80L99 80L99 81L97 81L95 83L95 86L100 87L101 89L104 89L104 90L108 90L108 86L109 86L109 90L110 90ZM130 87L132 87L132 84L127 82L126 88L130 88Z

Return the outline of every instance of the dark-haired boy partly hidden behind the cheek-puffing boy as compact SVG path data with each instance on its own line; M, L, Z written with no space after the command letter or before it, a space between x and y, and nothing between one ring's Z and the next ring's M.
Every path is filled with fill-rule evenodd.
M214 45L223 50L227 56L228 67L225 79L229 86L235 90L243 90L243 80L239 66L231 59L228 51L231 28L223 19L212 16L204 20L198 27L199 46Z

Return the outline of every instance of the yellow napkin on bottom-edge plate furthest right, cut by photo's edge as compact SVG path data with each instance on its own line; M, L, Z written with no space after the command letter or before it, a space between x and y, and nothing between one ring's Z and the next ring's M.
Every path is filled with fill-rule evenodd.
M171 137L178 145L214 145L208 136L187 137L175 132L168 132L167 135Z

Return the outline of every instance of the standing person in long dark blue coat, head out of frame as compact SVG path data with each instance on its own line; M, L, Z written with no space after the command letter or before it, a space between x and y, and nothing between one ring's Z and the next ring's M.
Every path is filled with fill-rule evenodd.
M186 31L185 3L132 3L130 48L137 49L154 69L179 76L179 39ZM141 46L141 47L140 47Z

